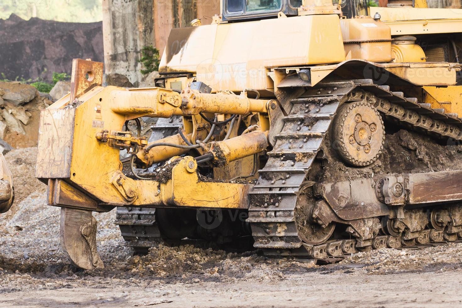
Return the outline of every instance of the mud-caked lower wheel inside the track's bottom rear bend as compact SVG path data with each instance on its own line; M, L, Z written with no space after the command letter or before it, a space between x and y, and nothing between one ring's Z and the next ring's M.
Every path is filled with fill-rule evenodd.
M298 230L298 237L305 243L319 245L326 242L334 233L335 223L329 223L323 228L315 223L311 217L311 211L315 205L311 195L312 187L307 185L300 189L295 208L295 224Z

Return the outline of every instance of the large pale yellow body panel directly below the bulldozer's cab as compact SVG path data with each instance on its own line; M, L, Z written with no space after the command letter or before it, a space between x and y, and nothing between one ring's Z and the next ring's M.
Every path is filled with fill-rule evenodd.
M265 90L267 68L345 60L338 15L310 15L172 30L160 72L197 72L213 91ZM177 40L185 41L178 49ZM174 45L174 46L173 46Z

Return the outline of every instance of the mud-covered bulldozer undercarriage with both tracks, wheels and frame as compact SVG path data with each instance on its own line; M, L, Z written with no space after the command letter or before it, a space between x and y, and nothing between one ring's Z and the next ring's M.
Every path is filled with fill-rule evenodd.
M302 94L292 98L296 92ZM322 83L285 97L273 114L280 129L270 131L273 146L260 160L245 222L206 236L197 232L199 210L177 209L182 219L164 225L186 232L172 235L158 209L119 208L128 246L142 252L187 239L226 247L225 233L227 242L252 241L251 229L254 247L268 256L334 262L358 251L462 239L456 115L371 80Z

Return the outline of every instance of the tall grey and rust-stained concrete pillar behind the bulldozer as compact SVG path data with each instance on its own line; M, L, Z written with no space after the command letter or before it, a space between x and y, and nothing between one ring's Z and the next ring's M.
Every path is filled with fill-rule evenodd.
M220 0L103 0L106 74L123 74L137 86L146 77L141 48L153 45L162 54L172 28L189 27L195 18L210 24L219 10Z

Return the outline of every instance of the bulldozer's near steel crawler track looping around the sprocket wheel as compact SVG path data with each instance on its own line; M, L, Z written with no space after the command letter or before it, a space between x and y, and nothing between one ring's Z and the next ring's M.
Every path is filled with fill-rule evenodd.
M418 243L395 236L379 235L372 245L364 247L351 237L332 239L311 245L300 238L296 223L296 205L302 187L307 182L318 152L321 150L334 116L342 103L366 100L383 118L404 129L412 129L433 137L461 140L461 120L443 109L431 109L416 98L406 98L402 92L389 91L388 86L374 85L371 80L351 80L319 84L293 99L291 110L283 118L284 126L275 136L274 149L267 153L268 161L259 170L259 179L250 193L249 218L254 246L270 256L315 258L327 262L340 260L345 254L378 248L421 248L455 242L458 235L446 236L443 230L427 228L421 231ZM382 217L377 217L382 218ZM347 235L347 234L346 234ZM360 246L360 247L359 247Z

